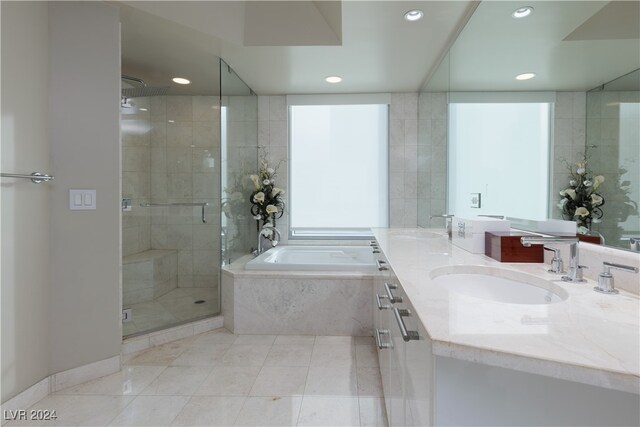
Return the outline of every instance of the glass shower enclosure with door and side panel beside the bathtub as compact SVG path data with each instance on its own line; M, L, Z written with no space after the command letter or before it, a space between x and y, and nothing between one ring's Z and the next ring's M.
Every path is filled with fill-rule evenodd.
M230 183L256 164L256 96L211 61L197 90L123 78L125 337L218 314L220 267L250 250L246 215L228 206Z

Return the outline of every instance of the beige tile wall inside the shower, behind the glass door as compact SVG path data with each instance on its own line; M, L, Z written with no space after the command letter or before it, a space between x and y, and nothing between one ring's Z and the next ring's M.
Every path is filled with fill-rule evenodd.
M123 256L178 251L179 287L218 285L220 265L220 105L216 96L134 99L146 112L123 115ZM200 207L141 203L208 202Z

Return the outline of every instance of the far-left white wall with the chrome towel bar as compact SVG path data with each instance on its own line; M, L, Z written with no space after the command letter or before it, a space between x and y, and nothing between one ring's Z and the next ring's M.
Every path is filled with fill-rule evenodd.
M5 173L51 171L47 3L2 2ZM2 179L2 402L49 375L49 184Z

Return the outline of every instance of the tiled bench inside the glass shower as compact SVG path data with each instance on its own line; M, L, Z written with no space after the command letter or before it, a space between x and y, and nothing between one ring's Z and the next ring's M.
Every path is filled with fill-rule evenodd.
M153 301L178 287L178 253L148 250L122 258L123 304Z

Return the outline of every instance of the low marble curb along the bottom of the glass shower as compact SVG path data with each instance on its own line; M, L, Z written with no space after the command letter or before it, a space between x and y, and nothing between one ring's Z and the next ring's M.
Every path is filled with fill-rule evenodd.
M127 338L122 342L122 356L182 338L192 337L203 332L219 329L223 327L223 324L224 318L222 315L219 315L208 319L196 320L195 322L176 326L175 328L163 329L162 331Z

